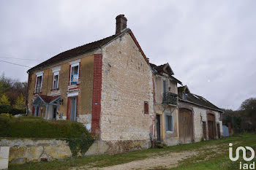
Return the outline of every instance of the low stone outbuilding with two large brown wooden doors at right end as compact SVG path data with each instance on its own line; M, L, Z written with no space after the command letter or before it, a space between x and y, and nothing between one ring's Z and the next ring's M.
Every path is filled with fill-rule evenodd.
M178 111L181 142L200 142L223 136L222 109L206 98L190 93L187 85L178 88Z

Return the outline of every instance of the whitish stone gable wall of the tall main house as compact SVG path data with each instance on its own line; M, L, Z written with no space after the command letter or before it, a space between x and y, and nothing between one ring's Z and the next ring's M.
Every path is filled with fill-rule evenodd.
M101 139L104 141L150 140L152 72L127 33L102 48ZM148 114L144 114L148 101Z

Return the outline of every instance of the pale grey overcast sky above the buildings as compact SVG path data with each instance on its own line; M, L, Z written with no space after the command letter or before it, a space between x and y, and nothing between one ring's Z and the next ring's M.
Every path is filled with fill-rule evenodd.
M254 0L0 1L0 60L35 66L115 34L124 14L152 63L170 63L192 93L238 109L256 97L255 9ZM0 61L0 73L20 81L28 69Z

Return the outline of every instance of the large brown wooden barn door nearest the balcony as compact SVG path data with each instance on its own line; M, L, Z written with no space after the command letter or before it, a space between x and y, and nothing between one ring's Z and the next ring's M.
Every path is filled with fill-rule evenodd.
M193 138L192 112L189 109L179 110L179 136L181 143L191 143Z

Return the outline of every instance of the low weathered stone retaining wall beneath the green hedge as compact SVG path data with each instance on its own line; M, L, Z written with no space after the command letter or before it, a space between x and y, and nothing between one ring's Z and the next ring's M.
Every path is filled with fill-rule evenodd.
M72 156L66 141L58 139L0 139L0 146L10 147L10 163L52 161Z

